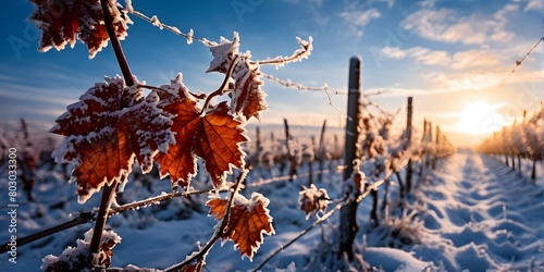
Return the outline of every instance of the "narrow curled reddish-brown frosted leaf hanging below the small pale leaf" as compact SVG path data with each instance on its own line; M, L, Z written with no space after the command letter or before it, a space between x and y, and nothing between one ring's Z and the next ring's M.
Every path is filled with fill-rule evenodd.
M234 92L232 97L232 113L240 112L247 120L259 119L259 112L267 109L260 81L259 64L251 64L247 54L236 63L233 71Z

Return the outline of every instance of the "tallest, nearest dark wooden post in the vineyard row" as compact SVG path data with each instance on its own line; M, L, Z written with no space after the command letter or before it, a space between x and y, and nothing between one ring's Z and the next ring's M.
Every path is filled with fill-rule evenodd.
M357 158L357 141L359 139L359 99L361 79L361 58L353 57L349 60L348 101L346 119L346 141L344 150L344 182L351 177L354 160ZM357 225L357 202L353 201L341 209L339 251L338 257L347 254L354 259L354 240L359 226Z

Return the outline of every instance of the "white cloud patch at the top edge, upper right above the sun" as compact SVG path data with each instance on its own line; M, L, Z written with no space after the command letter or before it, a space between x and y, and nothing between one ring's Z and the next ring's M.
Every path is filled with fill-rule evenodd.
M542 1L542 0L541 0ZM507 15L519 10L517 4L506 4L492 15L474 13L458 16L450 9L435 10L434 2L425 2L400 23L404 29L417 35L448 44L484 45L492 41L510 41L515 34L505 29Z

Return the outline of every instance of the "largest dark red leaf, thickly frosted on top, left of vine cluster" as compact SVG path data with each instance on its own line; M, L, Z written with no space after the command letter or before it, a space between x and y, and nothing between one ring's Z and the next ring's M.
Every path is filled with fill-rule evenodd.
M139 88L126 87L119 76L106 82L69 106L50 131L66 136L53 156L75 163L72 178L79 202L104 184L124 182L135 158L144 173L151 171L154 154L174 143L172 121L158 108L154 91L144 98Z

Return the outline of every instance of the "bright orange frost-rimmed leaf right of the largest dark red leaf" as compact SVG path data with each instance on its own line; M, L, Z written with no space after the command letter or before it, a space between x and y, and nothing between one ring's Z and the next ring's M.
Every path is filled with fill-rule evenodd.
M182 84L181 76L161 88L170 91L161 95L161 107L172 114L175 133L175 144L169 147L168 153L159 153L157 158L161 175L170 174L174 189L187 187L197 171L196 157L200 157L213 185L220 186L232 166L244 165L245 153L239 145L247 138L242 122L228 113L225 102L200 114L197 99Z

